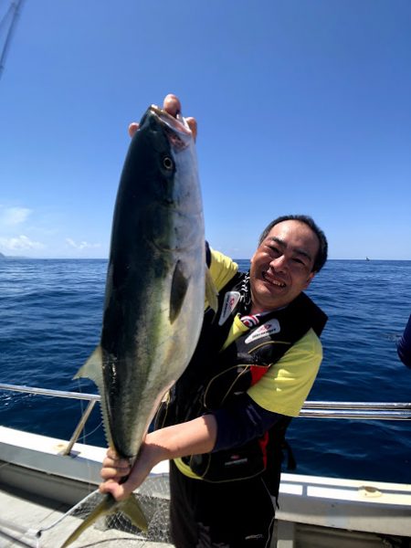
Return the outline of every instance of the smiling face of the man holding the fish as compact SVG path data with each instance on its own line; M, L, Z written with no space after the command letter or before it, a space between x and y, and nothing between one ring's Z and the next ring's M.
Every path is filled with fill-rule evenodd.
M300 221L282 221L269 231L251 258L252 312L286 306L310 285L320 242Z

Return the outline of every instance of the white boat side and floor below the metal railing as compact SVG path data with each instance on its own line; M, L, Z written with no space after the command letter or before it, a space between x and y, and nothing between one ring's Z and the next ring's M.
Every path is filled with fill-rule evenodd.
M105 449L75 444L68 456L65 445L0 427L0 548L57 548L89 514ZM161 463L138 490L147 537L102 518L72 547L172 547L167 472ZM271 548L411 548L411 485L284 473L276 517Z

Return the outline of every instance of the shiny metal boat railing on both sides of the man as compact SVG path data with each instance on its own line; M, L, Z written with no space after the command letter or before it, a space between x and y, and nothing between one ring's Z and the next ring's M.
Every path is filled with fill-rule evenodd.
M0 383L1 390L88 401L89 404L81 415L79 423L70 437L68 447L64 451L66 455L70 453L71 448L78 440L96 402L100 402L100 395L83 392L68 392ZM411 403L306 401L300 410L299 416L304 418L350 418L359 420L411 420Z

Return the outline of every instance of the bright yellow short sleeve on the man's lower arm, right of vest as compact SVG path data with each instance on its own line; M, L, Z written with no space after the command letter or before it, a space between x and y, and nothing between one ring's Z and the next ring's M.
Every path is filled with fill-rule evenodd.
M256 385L248 389L258 406L286 416L298 416L310 393L322 360L320 339L311 330L293 344Z

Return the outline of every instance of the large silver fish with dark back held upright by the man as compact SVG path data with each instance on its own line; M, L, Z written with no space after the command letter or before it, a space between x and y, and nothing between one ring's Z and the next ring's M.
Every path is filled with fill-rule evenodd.
M121 457L137 458L162 396L194 353L206 278L194 137L183 118L151 106L121 174L100 344L76 375L98 386L105 432ZM133 495L107 495L63 547L119 510L147 528Z

